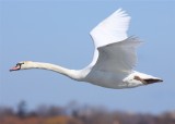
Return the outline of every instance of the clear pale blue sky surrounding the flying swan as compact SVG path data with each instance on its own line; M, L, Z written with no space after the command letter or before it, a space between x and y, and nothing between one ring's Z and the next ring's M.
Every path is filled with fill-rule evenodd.
M159 113L175 110L175 2L122 1L1 1L0 106L25 100L38 104L105 106L110 110ZM163 84L132 89L107 89L78 83L57 73L30 70L10 73L20 61L50 62L82 69L93 55L89 32L118 8L132 17L129 35L144 44L136 70L162 77Z

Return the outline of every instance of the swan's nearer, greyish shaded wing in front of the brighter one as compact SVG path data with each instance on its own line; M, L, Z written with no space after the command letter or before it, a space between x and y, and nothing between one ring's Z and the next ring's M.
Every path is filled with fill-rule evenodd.
M136 47L139 44L138 38L129 37L122 41L100 47L97 49L100 55L93 71L129 74L136 65Z

